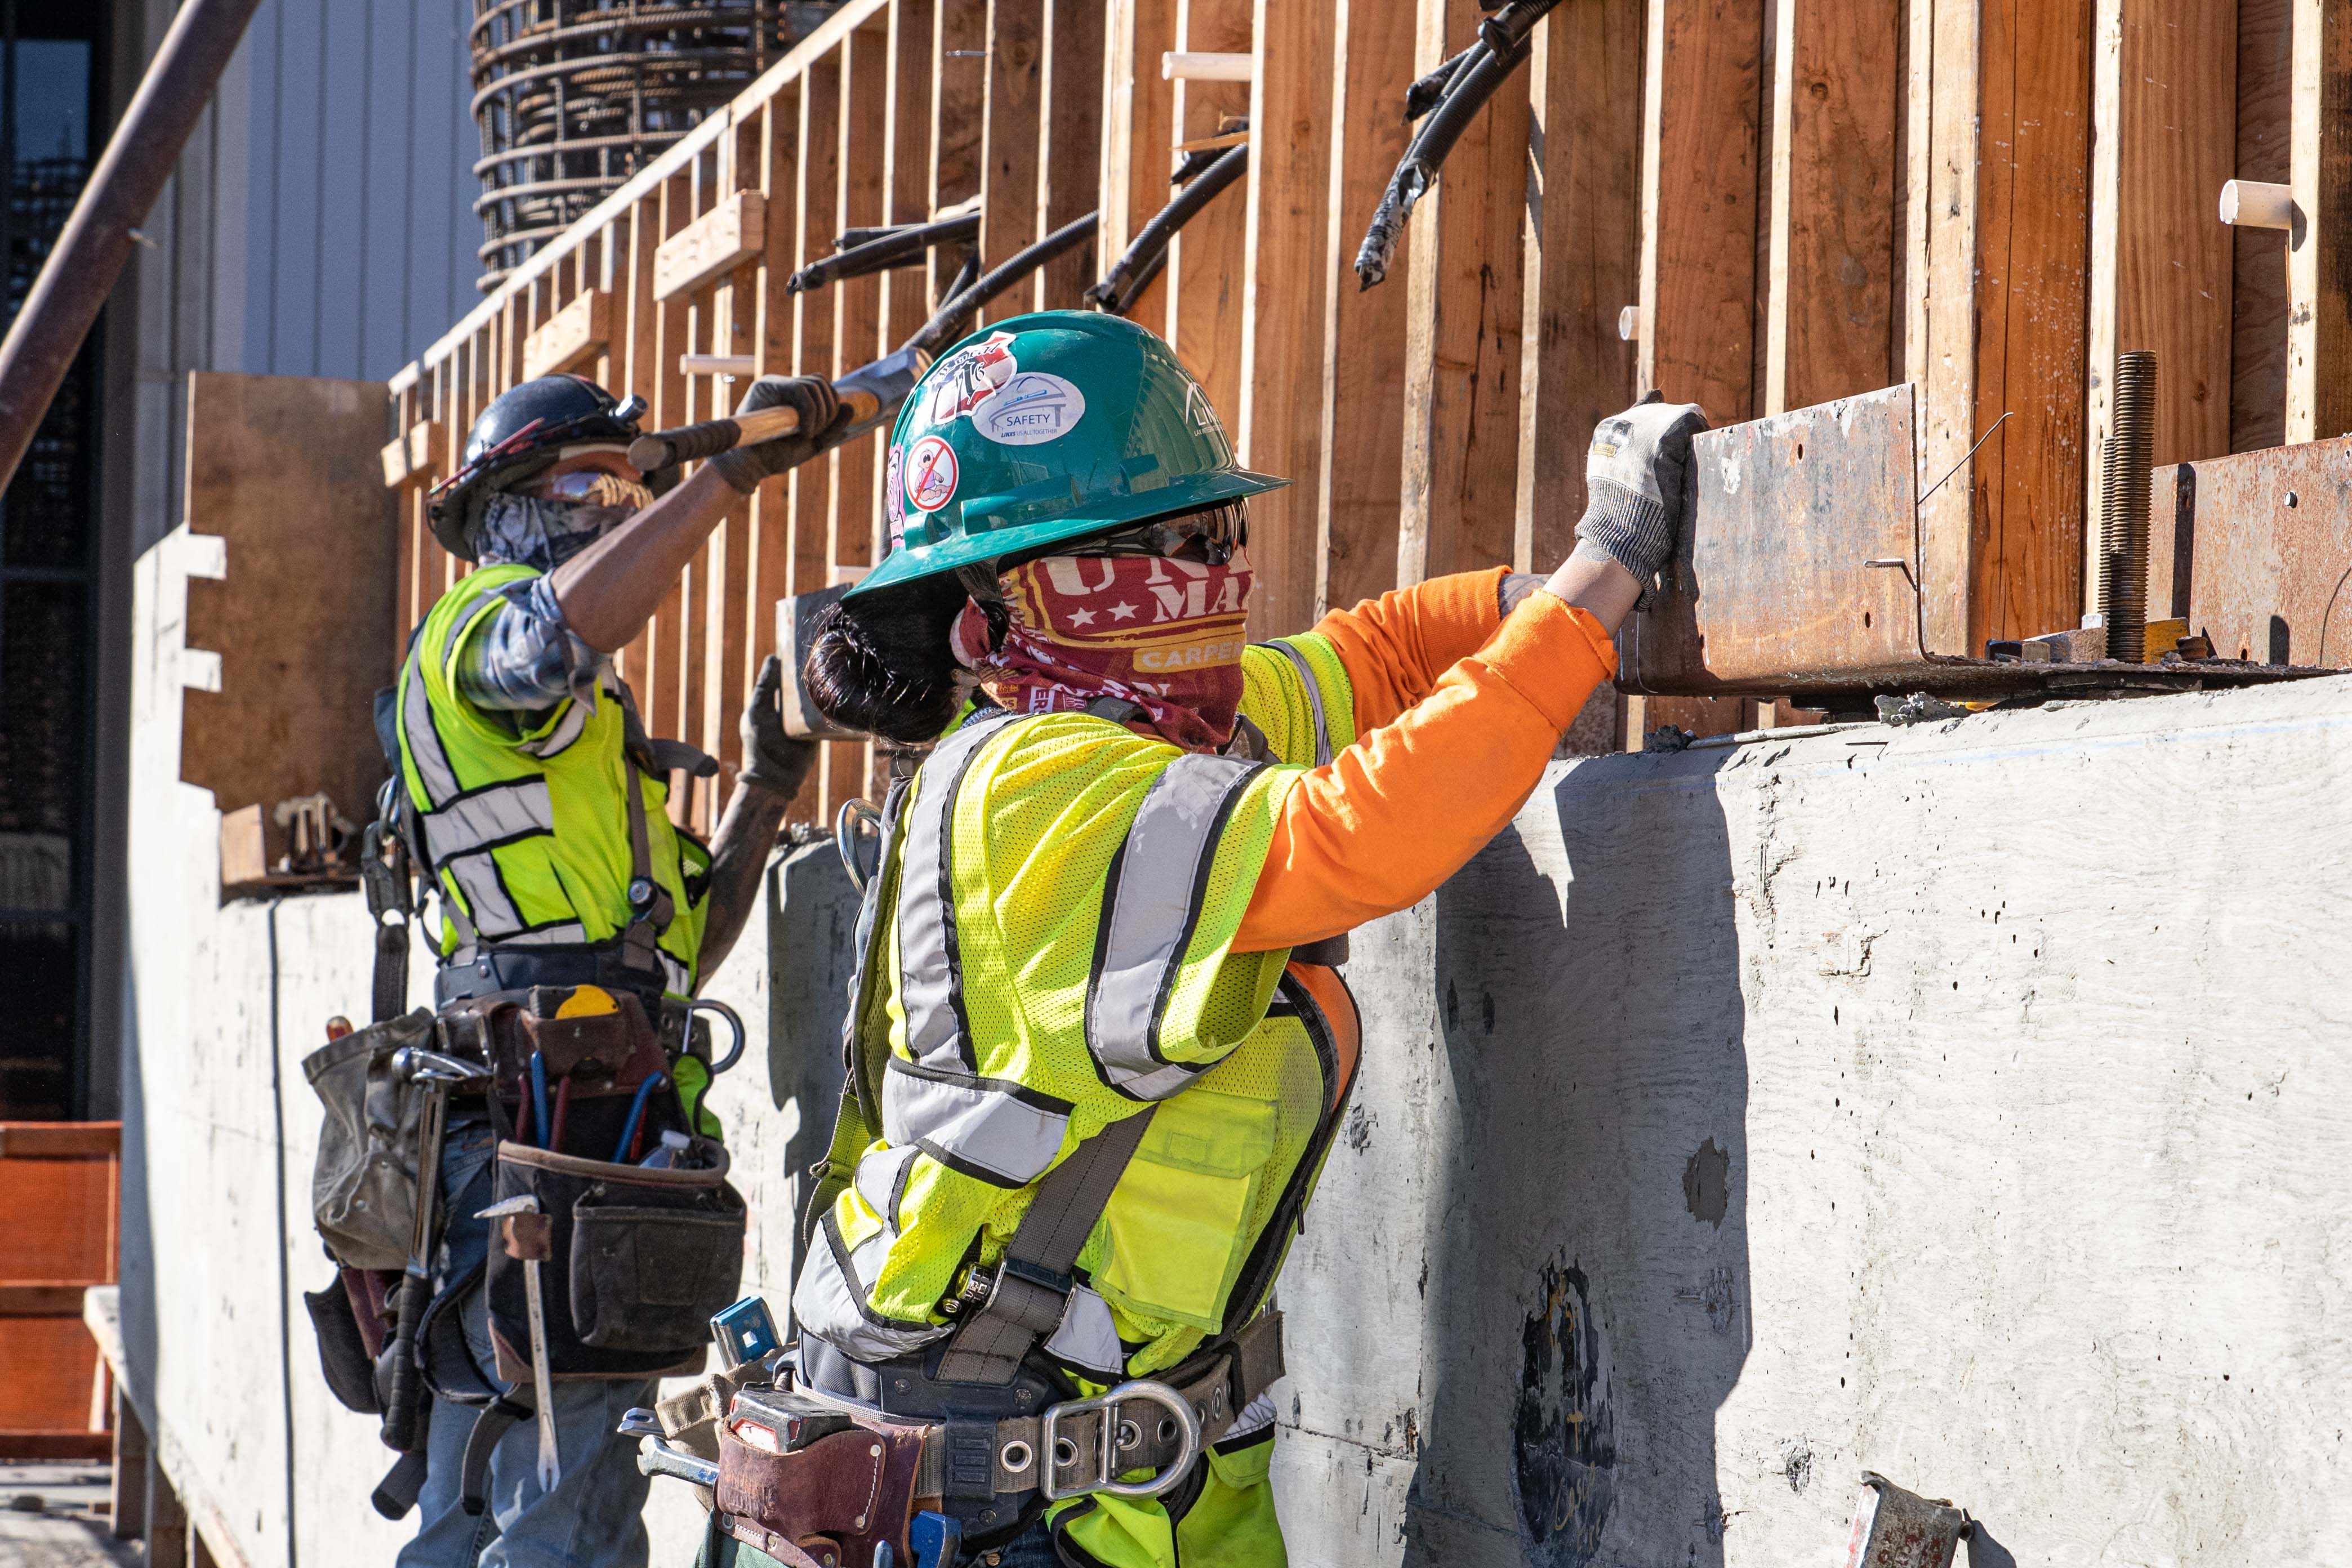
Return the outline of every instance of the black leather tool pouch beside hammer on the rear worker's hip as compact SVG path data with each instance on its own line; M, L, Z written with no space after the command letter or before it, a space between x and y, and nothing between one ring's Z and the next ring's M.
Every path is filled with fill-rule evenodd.
M708 1171L647 1171L520 1143L499 1145L494 1201L532 1194L550 1220L541 1298L553 1378L696 1373L710 1314L741 1295L743 1194L727 1152ZM529 1265L489 1248L489 1331L499 1378L529 1380Z

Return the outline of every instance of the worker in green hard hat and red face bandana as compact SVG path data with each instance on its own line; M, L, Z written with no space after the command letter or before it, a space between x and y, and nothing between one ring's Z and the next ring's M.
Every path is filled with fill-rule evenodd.
M1011 317L901 411L896 550L804 679L936 745L882 809L793 1316L804 1387L943 1425L962 1561L1284 1561L1268 1293L1357 1074L1331 964L1526 799L1672 548L1703 425L1606 421L1550 576L1244 646L1249 498L1282 480L1235 463L1157 336ZM746 1535L713 1556L764 1561Z

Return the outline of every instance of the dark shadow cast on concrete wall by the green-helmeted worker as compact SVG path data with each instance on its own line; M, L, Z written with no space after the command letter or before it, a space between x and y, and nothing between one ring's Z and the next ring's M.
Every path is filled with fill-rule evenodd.
M1411 1566L1724 1561L1715 1410L1752 1342L1726 757L1578 764L1564 863L1508 830L1437 893L1458 1124Z

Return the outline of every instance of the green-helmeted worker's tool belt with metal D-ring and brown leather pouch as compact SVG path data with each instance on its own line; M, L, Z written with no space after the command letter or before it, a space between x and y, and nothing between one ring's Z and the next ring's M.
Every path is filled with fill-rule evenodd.
M781 1385L736 1389L717 1422L715 1523L790 1568L903 1568L915 1514L957 1497L1174 1490L1279 1378L1277 1312L1167 1378L1002 1420L894 1418L786 1368ZM1136 1472L1155 1474L1120 1479Z

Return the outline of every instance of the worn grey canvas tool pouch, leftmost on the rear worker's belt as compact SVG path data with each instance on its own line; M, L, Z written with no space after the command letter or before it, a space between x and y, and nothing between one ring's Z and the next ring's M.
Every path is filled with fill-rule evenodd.
M310 1215L346 1267L407 1267L423 1095L393 1077L393 1053L430 1044L433 1013L419 1009L303 1058L303 1077L327 1107L310 1173Z

